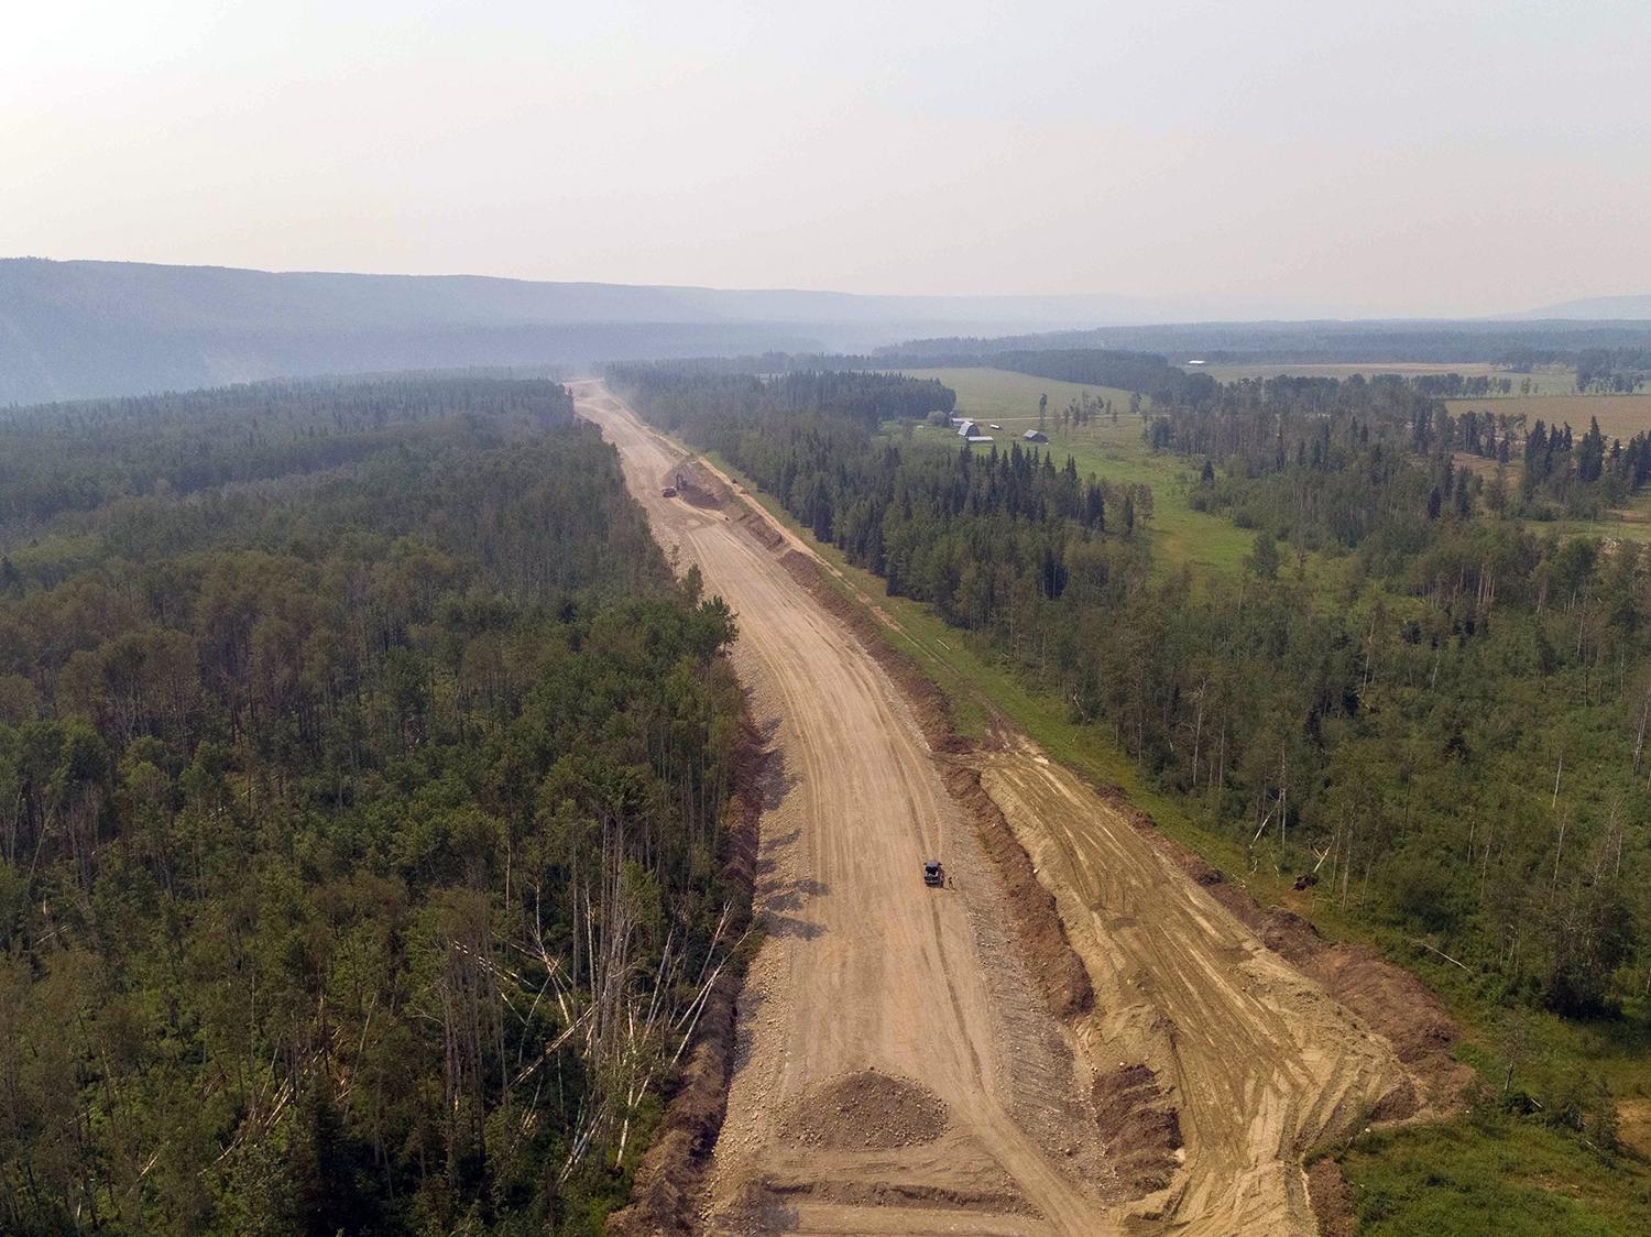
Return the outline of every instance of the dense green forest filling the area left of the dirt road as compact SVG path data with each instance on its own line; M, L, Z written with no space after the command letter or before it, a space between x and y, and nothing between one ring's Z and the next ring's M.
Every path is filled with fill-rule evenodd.
M553 383L0 416L0 1229L596 1230L738 918L733 634Z

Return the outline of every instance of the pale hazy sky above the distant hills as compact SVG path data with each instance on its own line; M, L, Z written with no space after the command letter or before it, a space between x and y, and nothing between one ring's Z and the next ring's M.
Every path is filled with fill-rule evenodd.
M5 0L0 254L1526 309L1651 292L1648 48L1648 0Z

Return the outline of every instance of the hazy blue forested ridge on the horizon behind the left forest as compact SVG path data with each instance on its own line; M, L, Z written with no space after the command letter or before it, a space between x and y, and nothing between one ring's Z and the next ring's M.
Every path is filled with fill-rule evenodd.
M279 375L576 368L1116 319L1114 297L915 297L0 258L0 406Z

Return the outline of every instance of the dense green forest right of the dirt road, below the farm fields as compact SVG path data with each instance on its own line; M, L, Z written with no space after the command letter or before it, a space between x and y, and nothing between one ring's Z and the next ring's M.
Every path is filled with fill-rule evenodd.
M1256 528L1242 576L1194 580L1152 563L1118 491L1047 451L750 416L703 375L692 398L669 370L611 377L1058 692L1253 864L1426 940L1493 1004L1644 1017L1651 563L1530 532L1517 486L1497 504L1494 476L1453 467L1461 424L1415 383L1159 406L1144 433L1189 456L1194 500ZM1309 552L1342 568L1331 593Z

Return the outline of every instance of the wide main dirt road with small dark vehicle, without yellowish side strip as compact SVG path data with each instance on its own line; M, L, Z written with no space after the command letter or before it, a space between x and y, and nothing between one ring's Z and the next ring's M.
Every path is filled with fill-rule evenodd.
M619 448L660 543L736 611L738 669L784 756L761 821L769 940L741 998L708 1227L1106 1232L1078 1062L1002 936L991 869L900 694L723 512L660 497L677 449L599 388L576 398ZM930 857L953 889L923 885ZM887 1136L877 1111L839 1146L783 1136L811 1107L835 1113L844 1097L822 1090L852 1092L873 1070L933 1093L943 1136ZM905 1145L867 1146L890 1141Z

